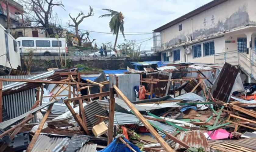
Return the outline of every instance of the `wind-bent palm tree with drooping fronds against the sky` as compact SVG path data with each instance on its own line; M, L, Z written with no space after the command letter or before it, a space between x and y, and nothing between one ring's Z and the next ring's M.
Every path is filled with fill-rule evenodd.
M115 40L115 44L113 47L113 50L116 50L116 42L117 42L119 30L122 32L123 37L125 37L124 33L123 33L123 31L124 31L124 28L123 28L124 16L123 16L122 12L117 12L117 11L114 11L111 9L102 9L102 10L108 11L109 14L101 15L101 16L99 16L99 18L100 17L110 17L110 16L112 17L109 22L109 27L110 27L110 31L113 32L113 34L116 34L116 40Z

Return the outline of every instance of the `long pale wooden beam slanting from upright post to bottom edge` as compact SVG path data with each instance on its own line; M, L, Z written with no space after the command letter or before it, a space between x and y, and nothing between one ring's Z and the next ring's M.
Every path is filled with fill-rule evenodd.
M144 126L149 130L149 132L156 138L156 140L162 145L162 147L168 152L174 152L172 148L163 140L163 138L157 133L157 131L148 123L148 121L140 114L140 112L134 107L134 105L126 98L126 96L117 88L113 86L116 92L121 96L123 101L128 105L128 107L134 112L134 114L140 119Z

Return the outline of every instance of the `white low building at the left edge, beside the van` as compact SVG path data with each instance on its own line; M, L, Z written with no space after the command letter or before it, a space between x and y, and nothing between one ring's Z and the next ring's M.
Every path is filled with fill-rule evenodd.
M18 42L0 24L0 68L21 67L18 45Z

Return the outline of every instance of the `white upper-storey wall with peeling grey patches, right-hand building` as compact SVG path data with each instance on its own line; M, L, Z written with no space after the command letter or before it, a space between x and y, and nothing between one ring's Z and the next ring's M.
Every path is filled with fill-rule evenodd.
M161 31L162 49L224 31L256 25L255 0L229 0ZM179 25L182 30L179 31Z

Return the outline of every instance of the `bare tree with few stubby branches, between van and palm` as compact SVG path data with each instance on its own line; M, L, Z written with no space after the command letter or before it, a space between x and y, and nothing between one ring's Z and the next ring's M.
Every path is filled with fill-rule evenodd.
M75 25L73 24L69 24L69 26L72 26L72 27L75 27L75 30L76 30L76 38L78 40L78 45L79 46L82 46L82 39L84 37L84 35L86 33L79 33L79 29L78 29L78 26L81 22L83 22L83 20L87 17L90 17L90 16L93 16L94 13L93 13L93 8L90 6L90 11L88 12L87 15L84 14L84 12L79 12L78 15L76 16L76 18L73 18L70 14L69 14L69 17L72 19L72 21L74 22ZM80 19L79 19L80 18ZM78 20L79 19L79 20Z

